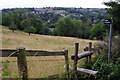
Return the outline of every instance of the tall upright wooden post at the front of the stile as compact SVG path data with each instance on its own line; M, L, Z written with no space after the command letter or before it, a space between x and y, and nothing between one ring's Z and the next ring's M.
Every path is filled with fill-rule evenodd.
M79 43L75 43L74 71L75 71L75 77L76 78L77 78L78 47L79 47Z

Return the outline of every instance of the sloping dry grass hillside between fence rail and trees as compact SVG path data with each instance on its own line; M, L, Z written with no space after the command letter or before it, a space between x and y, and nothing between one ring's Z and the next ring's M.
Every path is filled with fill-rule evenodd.
M74 52L74 43L79 42L81 47L80 51L88 45L91 40L48 36L24 33L22 31L12 32L6 27L2 28L2 48L3 49L16 49L16 47L25 47L26 49L37 50L64 50L69 49L70 53ZM96 41L92 41L96 42Z

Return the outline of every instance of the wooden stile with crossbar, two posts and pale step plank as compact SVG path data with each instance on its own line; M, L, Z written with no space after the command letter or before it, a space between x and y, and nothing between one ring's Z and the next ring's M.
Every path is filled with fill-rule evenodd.
M73 67L69 66L69 69L74 69L76 77L77 77L77 71L81 71L86 74L95 76L98 73L98 71L93 71L93 70L77 67L78 60L80 60L82 58L86 58L87 62L89 64L91 64L91 55L93 54L93 50L94 50L92 48L92 42L89 42L89 47L87 47L87 50L84 49L85 52L83 52L83 53L78 54L78 47L79 47L79 43L75 43L75 53L74 53L74 55L71 56L71 59L74 60L74 66Z

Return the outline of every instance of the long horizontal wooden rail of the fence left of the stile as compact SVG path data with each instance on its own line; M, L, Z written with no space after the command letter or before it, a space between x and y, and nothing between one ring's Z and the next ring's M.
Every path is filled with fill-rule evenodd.
M9 49L1 49L2 55L1 57L8 57L11 55L11 57L17 57L17 50L9 50ZM65 55L65 51L39 51L39 50L26 50L26 56L63 56Z

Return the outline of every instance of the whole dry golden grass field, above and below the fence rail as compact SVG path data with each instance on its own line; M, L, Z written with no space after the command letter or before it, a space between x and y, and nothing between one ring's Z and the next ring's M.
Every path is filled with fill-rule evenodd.
M72 37L47 36L24 33L21 31L12 32L6 27L2 27L2 49L16 49L16 47L25 47L30 50L47 50L47 51L61 51L68 49L69 56L74 54L74 44L79 42L79 53L88 46L88 42L96 43L97 41L85 40ZM60 61L36 61L36 60L51 60L64 59L62 57L27 57L28 75L29 78L47 77L48 75L62 73L64 60ZM2 58L3 61L16 61L16 58ZM81 61L82 62L82 61ZM70 61L70 65L72 62ZM18 73L17 63L9 63L9 71L15 74Z

